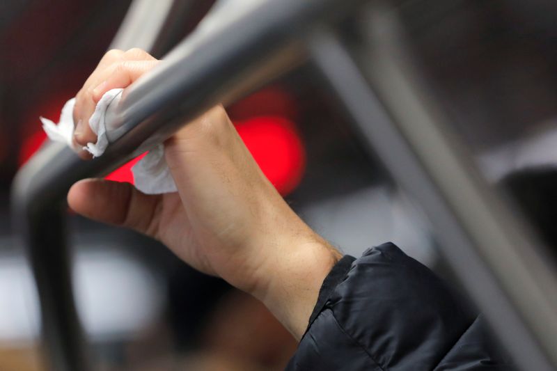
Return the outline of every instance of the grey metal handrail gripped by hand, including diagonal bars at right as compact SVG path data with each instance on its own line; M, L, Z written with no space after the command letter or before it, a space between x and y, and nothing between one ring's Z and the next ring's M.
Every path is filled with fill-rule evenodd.
M441 252L517 365L537 370L557 367L551 342L557 338L556 297L551 297L557 287L554 267L535 255L542 250L524 223L508 215L501 197L477 176L466 151L460 151L460 143L444 130L447 125L442 116L432 113L431 105L424 102L420 86L407 79L409 67L391 49L400 45L385 39L395 33L389 29L393 24L384 22L388 17L382 14L383 19L372 21L386 26L371 32L377 40L363 38L368 43L363 49L371 54L359 58L368 66L356 65L360 59L350 53L357 53L322 31L321 26L328 29L331 19L358 3L261 0L210 31L195 33L173 49L164 63L136 81L118 107L113 123L118 129L109 134L111 144L102 157L81 161L65 146L50 143L22 168L13 186L14 220L31 253L54 370L86 370L90 365L74 309L64 245L63 200L69 187L84 177L108 173L161 143L214 104L233 102L292 68L306 56L307 44L369 148L389 165L395 180L408 189L414 187L413 193L441 229L436 231L446 244ZM400 95L393 95L393 86ZM427 141L435 138L436 150L451 166L446 168L430 156L426 145L430 142L422 137L426 132L431 134ZM450 181L441 169L451 174ZM462 182L455 185L454 180ZM464 202L454 192L458 187L466 191ZM533 255L524 253L527 247ZM505 253L511 255L505 257ZM472 274L466 267L473 267ZM517 280L511 267L524 278L517 287L513 287ZM521 298L530 298L531 303L520 303ZM535 308L538 304L540 310ZM502 306L504 317L497 317L493 305ZM515 332L504 328L505 321ZM547 326L540 326L544 322Z

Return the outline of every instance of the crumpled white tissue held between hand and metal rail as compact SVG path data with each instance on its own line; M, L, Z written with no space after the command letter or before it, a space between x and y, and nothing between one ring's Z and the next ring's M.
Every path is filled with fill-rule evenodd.
M123 89L112 89L104 93L95 107L95 112L89 119L91 130L97 134L97 142L87 143L83 150L90 152L93 157L102 156L104 150L110 144L107 138L107 125L110 125L110 123L106 119L110 113L109 106L115 107L120 102L122 91ZM40 120L42 129L45 130L51 141L66 143L77 152L81 148L76 148L73 143L74 120L72 113L74 105L75 98L64 104L58 125L47 118L41 117ZM143 159L138 161L132 167L132 173L134 174L135 187L144 194L166 194L177 191L176 184L164 159L164 145L162 144L157 145Z

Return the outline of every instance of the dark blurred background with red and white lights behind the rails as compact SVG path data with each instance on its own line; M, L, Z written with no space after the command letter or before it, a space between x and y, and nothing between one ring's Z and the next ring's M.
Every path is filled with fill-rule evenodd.
M10 184L111 44L131 1L0 3L0 370L44 370L38 298L10 228ZM184 0L171 40L213 6ZM554 246L553 1L389 1L411 53L485 176ZM343 28L350 35L353 19ZM171 45L160 45L160 50ZM427 219L389 178L311 64L228 107L269 180L317 232L359 256L392 241L452 280ZM133 182L130 166L108 177ZM74 292L104 370L281 370L296 343L258 302L164 246L70 215Z

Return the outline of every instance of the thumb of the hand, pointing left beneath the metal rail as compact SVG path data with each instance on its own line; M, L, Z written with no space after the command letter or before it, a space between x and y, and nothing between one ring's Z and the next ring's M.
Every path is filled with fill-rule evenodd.
M68 204L78 214L157 238L162 196L146 195L132 184L86 179L74 184Z

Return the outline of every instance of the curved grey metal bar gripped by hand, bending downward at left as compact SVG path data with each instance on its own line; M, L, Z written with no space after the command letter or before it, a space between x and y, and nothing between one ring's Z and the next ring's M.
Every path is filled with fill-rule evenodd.
M206 109L242 97L303 58L299 40L312 26L358 1L265 0L180 43L136 81L120 102L119 127L102 157L82 161L49 143L17 173L13 221L31 254L52 370L91 368L74 307L63 221L65 196L77 180L104 175L168 138Z

